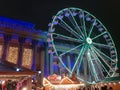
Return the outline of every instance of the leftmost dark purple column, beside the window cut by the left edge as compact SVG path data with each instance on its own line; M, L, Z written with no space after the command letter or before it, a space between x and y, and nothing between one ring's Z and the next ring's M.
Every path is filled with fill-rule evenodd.
M10 35L4 35L4 49L3 49L3 55L2 55L2 60L4 61L7 56L7 49L9 46L9 41L11 40Z

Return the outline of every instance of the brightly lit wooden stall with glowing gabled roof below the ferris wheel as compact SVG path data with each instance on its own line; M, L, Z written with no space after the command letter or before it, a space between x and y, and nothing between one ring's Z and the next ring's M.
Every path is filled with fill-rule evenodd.
M62 78L56 74L44 78L43 85L45 90L80 90L85 87L83 82L74 81L67 76Z

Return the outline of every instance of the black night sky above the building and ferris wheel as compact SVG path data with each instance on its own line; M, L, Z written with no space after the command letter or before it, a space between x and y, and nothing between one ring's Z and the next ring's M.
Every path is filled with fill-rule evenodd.
M52 16L66 7L78 7L97 17L110 32L120 55L120 0L0 0L0 15L47 30Z

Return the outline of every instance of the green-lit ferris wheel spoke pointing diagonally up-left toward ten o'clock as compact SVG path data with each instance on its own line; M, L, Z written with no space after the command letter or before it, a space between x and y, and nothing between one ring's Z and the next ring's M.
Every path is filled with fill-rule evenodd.
M66 22L64 22L63 20L61 20L61 23L59 23L59 25L61 27L63 27L65 30L67 30L68 32L70 32L71 34L73 34L75 37L81 39L80 35L75 32Z

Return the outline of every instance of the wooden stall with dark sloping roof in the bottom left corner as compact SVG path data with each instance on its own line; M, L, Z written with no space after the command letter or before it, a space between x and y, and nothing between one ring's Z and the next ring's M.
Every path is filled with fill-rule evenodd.
M35 72L0 62L0 90L31 90Z

